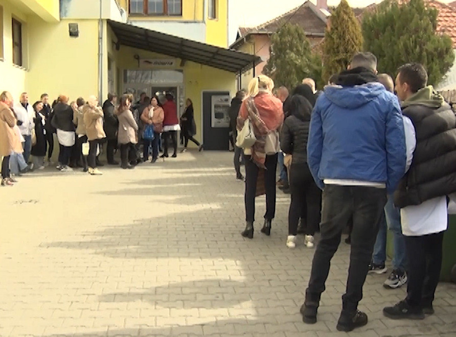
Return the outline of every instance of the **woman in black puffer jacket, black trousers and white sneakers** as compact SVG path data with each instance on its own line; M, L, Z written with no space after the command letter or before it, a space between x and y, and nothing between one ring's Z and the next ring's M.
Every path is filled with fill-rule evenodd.
M313 235L320 222L321 190L315 184L307 165L307 138L310 115L314 102L311 88L295 94L290 101L290 116L285 119L280 133L280 146L284 153L291 154L290 190L291 203L288 212L287 247L295 247L298 222L306 224L305 245L313 247Z

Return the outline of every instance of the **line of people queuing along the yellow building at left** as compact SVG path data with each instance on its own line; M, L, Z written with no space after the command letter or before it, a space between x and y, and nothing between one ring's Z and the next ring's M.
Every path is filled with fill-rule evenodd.
M43 93L39 101L29 103L23 92L19 102L8 91L0 95L0 156L2 186L12 186L16 177L33 170L43 170L52 164L54 134L59 143L57 170L61 172L82 168L90 175L101 175L100 154L106 153L108 165L119 165L115 152L120 151L123 169L150 160L155 163L159 152L169 157L169 141L177 157L177 132L184 138L184 149L193 141L198 150L203 146L193 137L196 134L193 103L187 99L184 114L178 118L177 105L167 93L162 105L158 97L141 93L133 103L132 94L109 93L102 106L94 95L70 103L69 97L59 95L50 104ZM163 147L162 147L163 143ZM106 149L104 150L104 145ZM142 147L142 151L141 151Z

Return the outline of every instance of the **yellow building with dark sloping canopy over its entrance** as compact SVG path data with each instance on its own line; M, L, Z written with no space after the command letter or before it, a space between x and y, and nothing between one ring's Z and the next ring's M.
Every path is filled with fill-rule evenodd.
M228 0L0 0L0 91L31 101L172 92L193 101L196 138L229 147L236 76L259 62L227 49Z

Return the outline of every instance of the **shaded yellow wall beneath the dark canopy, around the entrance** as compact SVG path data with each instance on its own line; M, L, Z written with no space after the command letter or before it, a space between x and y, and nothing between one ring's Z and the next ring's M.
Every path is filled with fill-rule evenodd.
M110 35L110 33L108 33L108 35ZM111 51L111 53L117 64L121 65L122 74L124 69L138 69L138 62L133 59L134 54L138 54L144 59L170 58L166 55L147 52L123 45L120 47L120 52ZM177 59L176 64L180 64L180 59ZM168 69L183 69L184 71L185 99L190 98L193 101L193 109L195 112L194 116L197 129L195 138L198 141L202 141L202 91L226 90L233 96L236 93L236 74L190 61L187 61L184 67L172 67ZM123 78L118 79L118 81L123 83ZM192 147L194 144L191 142L189 146Z

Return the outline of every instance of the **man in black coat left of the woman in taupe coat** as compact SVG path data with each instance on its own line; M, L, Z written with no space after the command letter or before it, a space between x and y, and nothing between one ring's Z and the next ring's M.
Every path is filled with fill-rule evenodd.
M107 139L106 159L109 165L119 165L119 162L114 160L114 150L117 148L117 132L119 129L119 121L114 113L116 102L117 95L108 93L108 99L103 103L104 132Z

